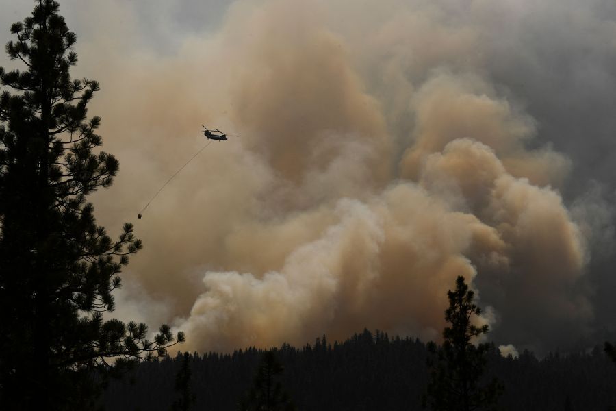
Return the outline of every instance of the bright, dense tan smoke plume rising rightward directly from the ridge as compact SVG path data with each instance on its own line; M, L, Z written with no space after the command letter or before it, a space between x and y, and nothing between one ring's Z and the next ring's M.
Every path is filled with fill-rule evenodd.
M511 304L524 300L510 321L533 325L533 311L540 321L590 314L587 301L565 297L583 254L555 192L512 177L489 147L467 139L429 158L420 185L339 200L337 221L279 271L208 272L181 327L216 349L303 343L322 332L342 338L364 326L437 338L446 290L457 275L477 273L504 284ZM476 214L458 210L470 210L465 200L478 201Z

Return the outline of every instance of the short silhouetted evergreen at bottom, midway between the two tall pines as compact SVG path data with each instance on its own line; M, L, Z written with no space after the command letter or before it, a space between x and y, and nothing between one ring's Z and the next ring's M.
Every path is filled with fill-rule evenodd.
M284 367L276 360L274 351L265 351L251 389L240 401L240 411L294 411L296 407L285 393L279 375Z

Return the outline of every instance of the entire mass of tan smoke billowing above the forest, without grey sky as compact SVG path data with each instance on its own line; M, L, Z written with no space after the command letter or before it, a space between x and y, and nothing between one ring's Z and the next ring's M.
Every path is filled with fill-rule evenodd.
M218 31L164 56L107 37L82 46L97 53L78 50L80 70L101 81L92 112L121 165L95 197L98 215L110 232L136 222L144 250L125 280L164 301L144 316L175 318L183 349L363 327L439 338L457 275L516 347L549 340L546 324L591 318L575 288L582 236L554 189L568 160L526 148L534 121L470 74L480 36L420 3L370 23L374 5L242 1ZM240 137L213 142L136 221L202 147L201 123Z

